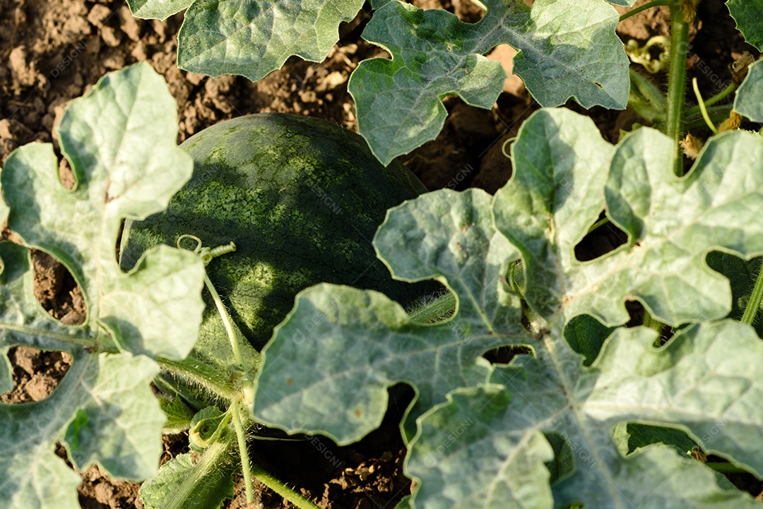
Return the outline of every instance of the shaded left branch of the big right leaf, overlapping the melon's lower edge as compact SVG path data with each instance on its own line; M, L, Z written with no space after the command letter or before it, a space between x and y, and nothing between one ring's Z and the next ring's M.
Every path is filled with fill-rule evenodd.
M412 322L373 291L320 284L299 293L262 352L256 418L351 443L381 423L395 383L417 390L413 421L450 390L485 381L481 355L526 338L516 296L501 283L516 253L494 231L490 200L476 189L428 194L391 209L375 237L396 277L435 277L456 294L448 322Z

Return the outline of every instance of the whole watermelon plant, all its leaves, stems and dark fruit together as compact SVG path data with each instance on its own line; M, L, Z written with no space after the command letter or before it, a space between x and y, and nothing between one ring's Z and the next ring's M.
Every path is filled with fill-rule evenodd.
M346 162L359 158L359 138L298 117L243 117L179 149L175 105L161 78L147 65L106 76L60 123L73 190L56 181L50 145L21 147L0 171L0 225L21 239L0 242L0 387L12 384L11 347L67 351L74 360L47 399L0 404L0 507L79 507L79 476L56 456L56 443L76 469L97 463L121 479L150 479L141 489L146 507L220 507L237 472L250 500L256 478L298 507L315 507L250 463L248 440L283 437L279 430L359 440L378 427L388 388L399 382L416 392L401 434L404 472L417 488L398 509L757 505L721 472L763 477L763 372L755 362L763 354L756 323L763 139L738 129L740 115L746 127L763 122L763 67L749 66L739 88L707 101L697 94L697 107L685 107L687 17L696 3L645 6L671 9L668 93L632 76L638 86L628 101L659 130L640 127L612 145L587 117L544 108L521 126L513 177L494 196L439 190L414 199L422 189L396 165L378 167L383 177L353 195L362 186ZM233 30L238 37L262 26L246 21L261 11L274 23L288 20L287 4L141 5L190 5L187 17L239 9L224 24L244 20ZM486 5L473 25L398 2L374 5L369 34L389 30L396 41L382 41L391 64L364 68L369 80L380 80L369 83L381 101L372 109L382 134L366 139L382 162L436 134L443 95L474 104L487 97L481 94L497 73L480 54L491 37L527 44L517 63L546 104L585 91L581 76L594 79L588 92L597 98L581 92L581 103L613 97L612 82L575 72L590 66L559 63L579 56L601 79L617 76L624 54L609 36L618 18L604 0L576 2L585 14L579 18L566 14L573 8L567 0L537 0L530 9ZM759 44L761 23L749 5L728 5L745 37ZM310 37L283 40L320 40L313 36L332 35L336 20L349 15L328 22L322 16L330 9L313 7L300 7L291 20L294 34L307 26ZM578 35L565 31L578 25ZM591 34L606 37L591 46ZM578 36L584 41L575 42ZM214 63L222 47L239 52L217 41L204 58ZM266 56L262 69L275 58ZM531 85L533 78L543 85ZM578 88L568 79L578 79ZM398 102L404 93L412 102ZM728 122L716 126L708 110L730 94ZM684 174L678 142L689 144L684 131L695 114L721 132L693 142L696 161ZM386 155L379 140L388 143ZM236 152L224 148L233 143ZM329 191L335 188L342 191ZM373 257L356 250L362 243L351 230L370 237L381 220L365 217L363 192L386 200L380 210L393 207L373 240L391 274L447 291L406 309L398 301L417 294L410 285L385 282L375 268L356 280L365 274L356 275L355 264L373 267ZM345 194L349 205L340 202ZM247 210L237 212L237 203ZM266 219L254 221L263 209ZM340 211L357 220L339 221ZM276 220L284 228L270 224ZM627 242L579 260L575 248L604 224L625 232ZM302 235L311 242L289 251ZM333 249L321 251L327 244ZM29 248L72 273L85 295L85 324L64 325L41 309ZM307 260L293 263L304 251ZM313 264L314 253L320 260ZM333 283L302 290L288 311L288 295L316 281ZM626 327L628 301L641 303L643 325ZM485 357L503 347L525 353L503 364ZM163 430L188 430L193 453L158 469ZM707 461L711 454L722 461Z

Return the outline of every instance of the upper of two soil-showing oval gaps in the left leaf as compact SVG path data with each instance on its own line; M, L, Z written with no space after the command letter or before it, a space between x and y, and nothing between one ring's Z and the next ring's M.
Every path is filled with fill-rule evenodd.
M66 325L85 322L85 299L74 277L56 258L33 249L34 296L53 318Z

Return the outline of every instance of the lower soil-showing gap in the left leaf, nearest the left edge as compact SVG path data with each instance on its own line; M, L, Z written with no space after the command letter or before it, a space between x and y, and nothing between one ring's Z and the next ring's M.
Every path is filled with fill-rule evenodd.
M13 368L13 388L0 396L3 403L30 403L47 398L69 370L72 357L66 352L14 347L8 351Z

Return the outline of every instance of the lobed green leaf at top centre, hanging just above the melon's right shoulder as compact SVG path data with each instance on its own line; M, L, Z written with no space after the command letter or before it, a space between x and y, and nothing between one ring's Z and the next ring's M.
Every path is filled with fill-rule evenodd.
M482 55L502 43L520 50L513 72L543 106L569 98L584 107L626 106L628 58L615 34L617 11L605 2L538 0L530 9L522 0L488 0L485 6L475 24L403 2L375 11L363 37L392 59L361 62L348 88L359 132L385 165L435 139L447 116L446 95L492 107L506 75Z

